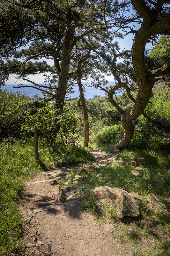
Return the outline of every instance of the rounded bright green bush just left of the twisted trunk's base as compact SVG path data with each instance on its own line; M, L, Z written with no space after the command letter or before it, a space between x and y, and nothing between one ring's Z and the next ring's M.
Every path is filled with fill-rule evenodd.
M122 124L105 126L96 134L93 134L90 138L91 142L96 142L98 146L107 143L115 144L117 140L121 139L124 133Z

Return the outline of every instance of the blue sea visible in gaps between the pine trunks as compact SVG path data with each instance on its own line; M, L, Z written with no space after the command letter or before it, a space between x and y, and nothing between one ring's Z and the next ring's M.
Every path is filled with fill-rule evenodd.
M115 84L115 81L109 81L107 86L113 86ZM37 95L38 97L44 97L42 92L40 90L37 90L37 89L34 89L34 88L31 88L31 87L23 87L23 88L13 88L13 86L17 86L18 84L15 84L15 83L12 83L12 84L5 84L4 87L1 88L1 90L8 90L8 91L11 91L11 92L24 92L26 93L26 95L28 96L34 96L34 95ZM24 85L33 85L33 84L24 84ZM40 85L45 85L43 83L41 83ZM85 92L84 92L84 95L85 95L85 98L86 99L91 99L93 98L94 96L106 96L105 92L103 90L100 90L100 88L92 88L92 87L88 87L84 84L85 86ZM44 88L42 88L44 89ZM79 97L80 96L80 92L79 92L79 89L78 89L78 85L74 88L74 92L67 95L68 98L76 98L76 97Z

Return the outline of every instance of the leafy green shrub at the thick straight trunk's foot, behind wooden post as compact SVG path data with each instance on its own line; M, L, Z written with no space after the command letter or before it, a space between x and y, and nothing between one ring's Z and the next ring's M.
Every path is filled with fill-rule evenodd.
M54 142L59 133L63 144L72 143L78 137L78 132L83 126L73 114L63 113L55 116L53 103L44 103L44 106L37 108L36 113L25 112L22 131L24 135L30 136L33 127L37 126L39 136L46 138L49 143Z

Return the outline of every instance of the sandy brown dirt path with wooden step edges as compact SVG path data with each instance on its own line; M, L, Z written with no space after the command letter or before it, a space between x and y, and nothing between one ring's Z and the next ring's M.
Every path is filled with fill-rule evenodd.
M93 154L95 162L102 166L116 159L116 153L103 154L98 149L94 149ZM130 255L111 236L113 225L98 225L92 214L81 207L84 196L76 197L66 204L59 202L55 178L62 178L70 171L70 168L62 167L42 172L25 184L26 200L19 202L25 221L23 249L17 255ZM37 209L54 204L55 208L36 213Z

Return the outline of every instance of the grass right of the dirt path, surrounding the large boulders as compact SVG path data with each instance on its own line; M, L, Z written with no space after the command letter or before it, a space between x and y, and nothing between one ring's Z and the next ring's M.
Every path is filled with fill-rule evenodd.
M99 171L91 170L89 177L86 175L84 187L93 189L108 182L112 187L127 187L132 192L137 192L145 203L149 193L153 193L169 203L170 156L168 154L129 148L118 151L117 156L125 162L116 162L103 168L100 167L100 173L102 173L100 177L97 175ZM142 166L141 175L138 177L133 175L136 168L126 164L134 158L137 159L138 165ZM140 162L140 158L144 158L143 161ZM82 205L96 216L99 223L114 223L116 225L116 228L113 229L114 235L125 244L125 247L130 244L134 255L170 255L169 208L152 211L152 209L147 210L144 207L144 209L140 209L140 217L137 220L129 217L118 220L115 209L99 202L90 192ZM139 234L142 234L145 239L149 239L151 242L149 248L142 246Z

